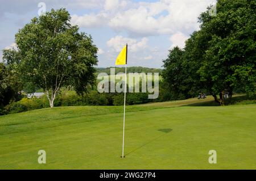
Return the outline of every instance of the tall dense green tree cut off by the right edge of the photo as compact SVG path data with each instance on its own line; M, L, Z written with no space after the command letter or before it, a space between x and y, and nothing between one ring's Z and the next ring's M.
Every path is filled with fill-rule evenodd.
M255 8L255 1L220 0L217 16L210 17L205 12L200 17L200 33L210 35L199 70L201 81L207 83L220 104L224 102L224 94L231 98L236 87L245 87L249 95L256 93Z

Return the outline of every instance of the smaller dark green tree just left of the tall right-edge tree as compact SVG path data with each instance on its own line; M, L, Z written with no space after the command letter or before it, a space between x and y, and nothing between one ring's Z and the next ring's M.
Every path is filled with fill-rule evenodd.
M168 58L163 60L163 79L171 91L172 99L188 99L205 91L197 73L203 63L204 41L198 32L194 32L186 41L182 50L178 47L169 51Z

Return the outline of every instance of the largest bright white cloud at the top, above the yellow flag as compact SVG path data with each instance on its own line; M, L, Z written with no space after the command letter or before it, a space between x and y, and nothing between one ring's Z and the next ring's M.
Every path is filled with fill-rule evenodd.
M197 17L207 5L207 1L201 0L140 3L136 9L118 12L109 26L142 36L187 32L199 27Z

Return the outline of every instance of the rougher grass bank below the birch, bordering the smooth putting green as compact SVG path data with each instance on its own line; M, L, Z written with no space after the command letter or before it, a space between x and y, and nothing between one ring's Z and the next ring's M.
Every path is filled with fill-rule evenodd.
M126 112L151 109L150 107L127 107ZM122 106L71 106L5 115L0 117L0 135L90 122L94 120L94 116L122 112Z

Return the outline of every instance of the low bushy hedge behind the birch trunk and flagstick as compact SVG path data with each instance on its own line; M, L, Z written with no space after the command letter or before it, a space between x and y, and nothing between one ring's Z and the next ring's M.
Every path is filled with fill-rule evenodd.
M56 97L54 106L120 106L123 105L123 93L99 93L90 90L84 95L79 95L75 91L61 91ZM148 99L147 93L127 93L126 104L143 104L155 101ZM158 100L160 101L160 99ZM2 109L2 114L17 113L23 111L36 110L49 107L48 99L44 95L41 98L23 98L18 102L13 102Z

